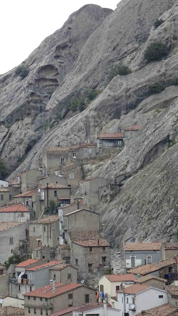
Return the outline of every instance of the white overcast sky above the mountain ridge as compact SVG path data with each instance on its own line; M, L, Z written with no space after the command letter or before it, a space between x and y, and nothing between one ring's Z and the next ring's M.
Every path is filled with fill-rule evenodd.
M0 0L0 74L19 65L85 4L115 9L120 0Z

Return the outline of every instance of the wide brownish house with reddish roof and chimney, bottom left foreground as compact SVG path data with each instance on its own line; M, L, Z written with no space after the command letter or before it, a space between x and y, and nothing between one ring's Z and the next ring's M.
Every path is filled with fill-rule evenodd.
M95 290L78 283L56 283L24 294L25 315L51 315L71 306L96 301Z

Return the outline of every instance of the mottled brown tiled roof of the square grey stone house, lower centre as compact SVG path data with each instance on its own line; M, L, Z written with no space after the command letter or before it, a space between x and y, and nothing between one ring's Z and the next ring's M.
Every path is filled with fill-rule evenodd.
M107 247L110 244L98 231L70 231L71 241L83 247Z

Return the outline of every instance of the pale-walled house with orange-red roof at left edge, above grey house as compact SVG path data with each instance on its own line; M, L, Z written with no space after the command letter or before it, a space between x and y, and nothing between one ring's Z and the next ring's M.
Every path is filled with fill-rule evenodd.
M30 211L23 204L16 204L0 209L0 222L27 223L30 221Z

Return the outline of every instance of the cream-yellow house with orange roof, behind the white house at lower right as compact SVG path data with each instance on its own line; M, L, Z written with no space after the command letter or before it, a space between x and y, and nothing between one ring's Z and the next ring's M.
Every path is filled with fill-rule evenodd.
M99 291L107 293L108 302L112 304L112 297L115 298L116 291L122 288L123 282L130 286L135 280L134 274L105 274L99 279Z

